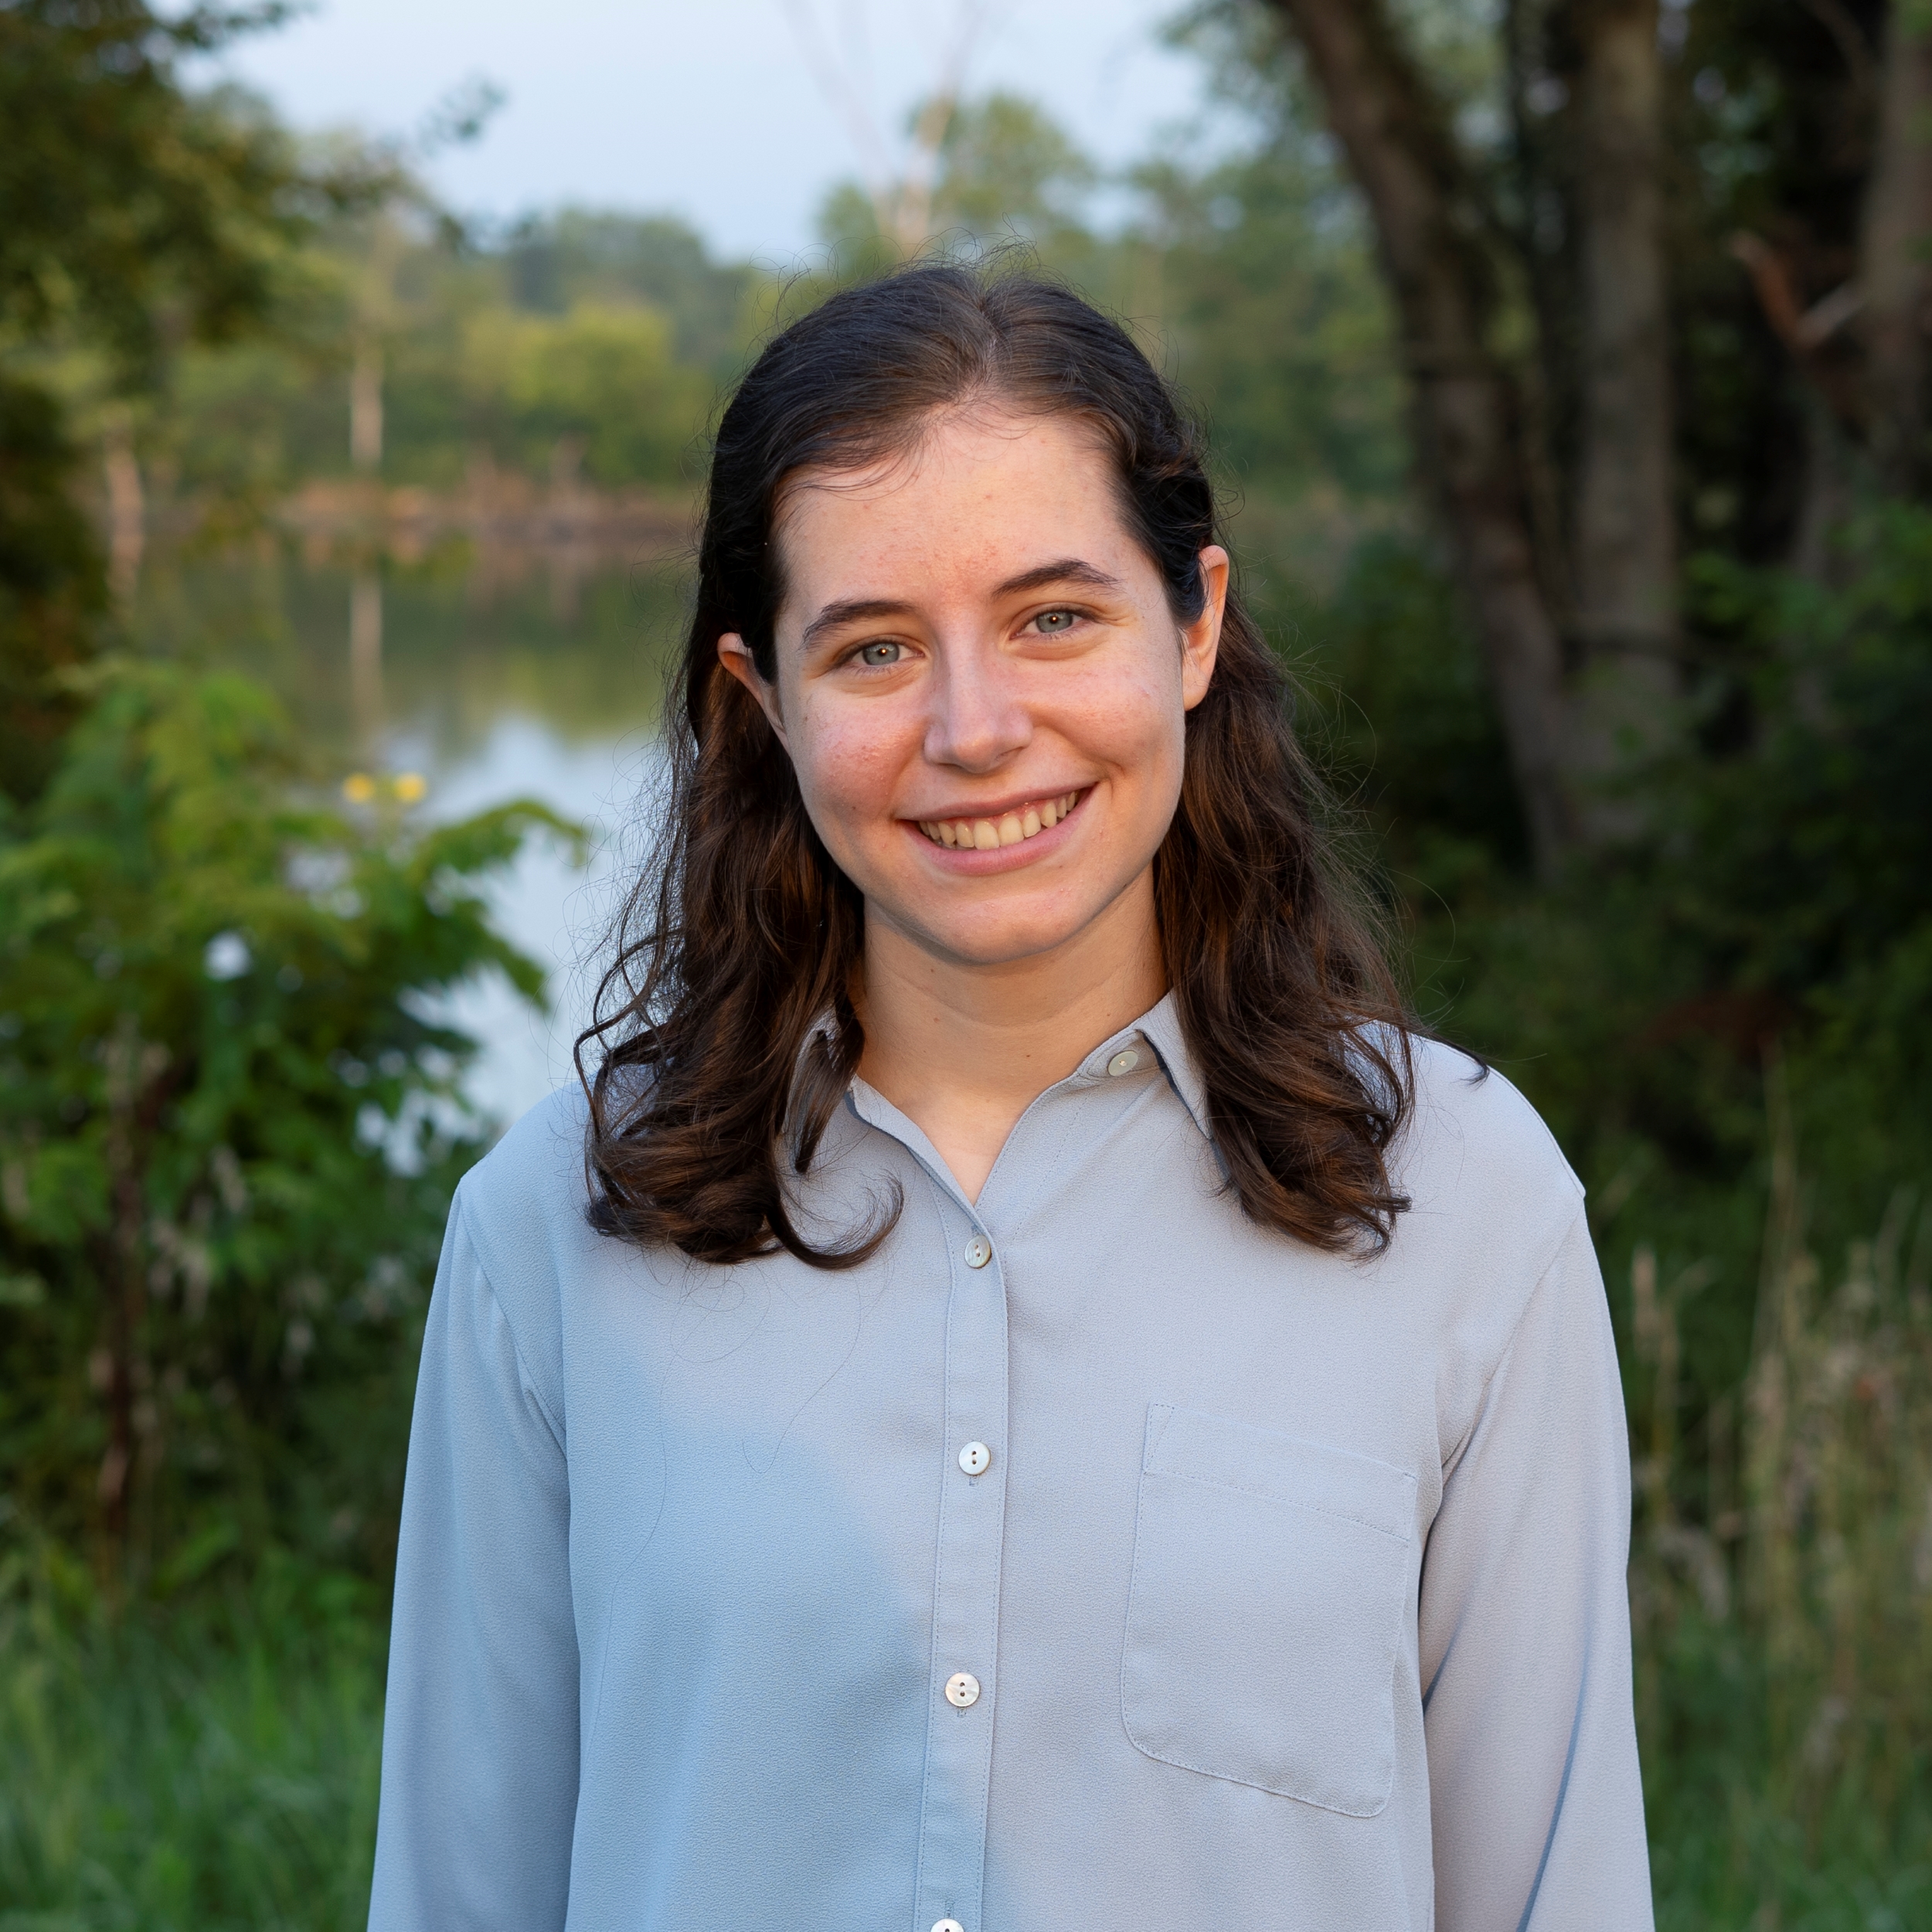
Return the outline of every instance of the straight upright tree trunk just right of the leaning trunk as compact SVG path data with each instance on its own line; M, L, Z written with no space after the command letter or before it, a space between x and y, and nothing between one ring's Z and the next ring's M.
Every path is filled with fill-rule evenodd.
M1578 757L1656 746L1677 688L1663 89L1656 0L1582 0L1577 35ZM1602 804L1596 808L1604 810Z

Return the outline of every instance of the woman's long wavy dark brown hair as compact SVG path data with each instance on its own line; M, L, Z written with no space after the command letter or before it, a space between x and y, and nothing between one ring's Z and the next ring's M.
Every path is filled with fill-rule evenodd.
M1200 553L1221 518L1200 437L1132 338L1078 296L1030 272L925 265L837 294L767 344L713 446L659 846L578 1039L589 1217L607 1235L703 1262L777 1246L850 1267L896 1221L898 1204L879 1204L827 1246L798 1225L792 1177L866 1043L852 997L866 906L717 641L742 636L771 682L786 487L902 454L976 400L1090 425L1177 618L1202 611ZM1153 885L1227 1186L1296 1240L1385 1246L1406 1208L1387 1153L1410 1105L1410 1022L1323 833L1283 670L1235 591Z

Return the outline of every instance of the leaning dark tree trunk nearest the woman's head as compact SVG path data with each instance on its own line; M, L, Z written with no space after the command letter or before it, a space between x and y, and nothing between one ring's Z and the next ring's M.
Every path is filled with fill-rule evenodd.
M1488 344L1482 205L1385 0L1273 0L1368 197L1395 294L1428 475L1488 657L1517 790L1548 875L1577 835L1563 649L1536 572L1517 400Z

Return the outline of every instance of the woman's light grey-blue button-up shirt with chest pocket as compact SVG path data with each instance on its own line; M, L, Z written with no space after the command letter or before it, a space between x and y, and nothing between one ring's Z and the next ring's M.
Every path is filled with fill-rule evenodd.
M1169 1001L978 1204L856 1084L848 1273L593 1235L535 1109L429 1314L375 1932L1646 1928L1580 1188L1428 1043L1395 1169L1379 1258L1256 1227Z

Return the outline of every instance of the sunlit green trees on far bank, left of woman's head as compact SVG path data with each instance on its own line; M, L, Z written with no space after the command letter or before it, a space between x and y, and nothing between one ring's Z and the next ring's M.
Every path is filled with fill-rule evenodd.
M682 493L753 327L752 272L655 216L564 211L500 247L458 249L400 211L338 224L303 263L276 340L184 355L145 429L155 466L205 518L259 518L350 471L357 328L383 355L384 481L458 489L487 462Z

